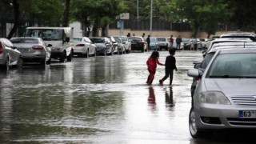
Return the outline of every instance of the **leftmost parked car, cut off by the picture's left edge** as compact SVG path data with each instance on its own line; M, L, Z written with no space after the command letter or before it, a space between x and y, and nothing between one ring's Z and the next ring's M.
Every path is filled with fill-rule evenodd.
M9 69L10 66L22 67L22 54L7 38L0 38L0 66Z

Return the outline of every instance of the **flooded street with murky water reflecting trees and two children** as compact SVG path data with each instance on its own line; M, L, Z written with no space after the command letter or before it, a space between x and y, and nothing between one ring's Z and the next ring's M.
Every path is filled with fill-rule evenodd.
M176 52L172 87L169 79L158 85L164 66L158 66L153 85L146 85L150 54L1 70L0 143L217 143L194 140L188 129L192 78L186 71L202 51ZM159 61L167 55L160 51Z

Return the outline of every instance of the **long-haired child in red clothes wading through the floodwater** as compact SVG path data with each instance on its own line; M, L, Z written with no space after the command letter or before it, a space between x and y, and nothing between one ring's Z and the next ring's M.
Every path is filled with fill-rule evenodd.
M154 80L154 74L157 69L157 64L161 66L165 66L164 64L158 61L158 58L159 58L158 51L153 51L150 58L148 58L146 61L147 70L149 70L150 72L150 75L148 76L146 81L147 85L151 85Z

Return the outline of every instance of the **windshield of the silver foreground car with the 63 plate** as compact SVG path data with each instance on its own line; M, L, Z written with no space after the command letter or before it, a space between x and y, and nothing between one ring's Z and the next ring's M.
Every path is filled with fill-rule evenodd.
M256 54L218 54L206 78L256 78Z

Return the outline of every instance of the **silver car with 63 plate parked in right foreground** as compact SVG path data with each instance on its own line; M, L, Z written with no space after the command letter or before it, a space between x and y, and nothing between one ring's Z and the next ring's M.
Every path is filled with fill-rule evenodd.
M201 78L189 114L193 138L214 130L256 127L255 48L218 50L204 72L188 70L188 76Z

